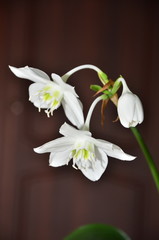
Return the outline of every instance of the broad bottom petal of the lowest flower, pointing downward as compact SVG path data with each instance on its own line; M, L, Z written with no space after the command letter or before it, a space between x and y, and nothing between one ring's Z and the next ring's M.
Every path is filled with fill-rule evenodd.
M96 159L92 168L81 168L82 173L91 181L100 179L108 165L108 157L101 149L96 148Z

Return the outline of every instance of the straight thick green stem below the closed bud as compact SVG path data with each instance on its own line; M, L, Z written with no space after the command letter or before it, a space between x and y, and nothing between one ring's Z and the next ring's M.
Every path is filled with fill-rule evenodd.
M141 151L143 152L145 158L146 158L146 161L148 163L148 166L150 168L150 171L151 171L151 174L152 174L152 177L154 179L154 182L156 184L156 188L157 190L159 191L159 171L154 163L154 160L149 152L149 149L147 148L140 132L138 131L137 128L135 127L131 127L131 131L133 132L139 146L140 146L140 149Z

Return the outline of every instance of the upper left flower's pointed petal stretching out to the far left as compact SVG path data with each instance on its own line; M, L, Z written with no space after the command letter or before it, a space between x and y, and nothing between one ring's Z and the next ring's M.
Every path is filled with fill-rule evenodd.
M50 81L49 76L45 72L36 68L31 68L28 66L25 66L22 68L9 66L9 68L17 77L20 77L20 78L25 78L33 82L41 82L41 83L46 83Z

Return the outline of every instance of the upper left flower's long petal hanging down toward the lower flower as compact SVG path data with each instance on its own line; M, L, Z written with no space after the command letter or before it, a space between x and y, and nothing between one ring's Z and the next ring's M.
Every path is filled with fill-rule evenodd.
M84 125L83 109L80 101L72 93L64 92L62 106L70 122L80 129Z

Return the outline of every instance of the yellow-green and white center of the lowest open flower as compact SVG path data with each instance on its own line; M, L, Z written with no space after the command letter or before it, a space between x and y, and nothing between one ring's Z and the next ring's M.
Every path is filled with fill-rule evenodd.
M95 161L94 144L87 141L77 142L70 154L70 158L73 158L73 167L75 169L93 167Z

